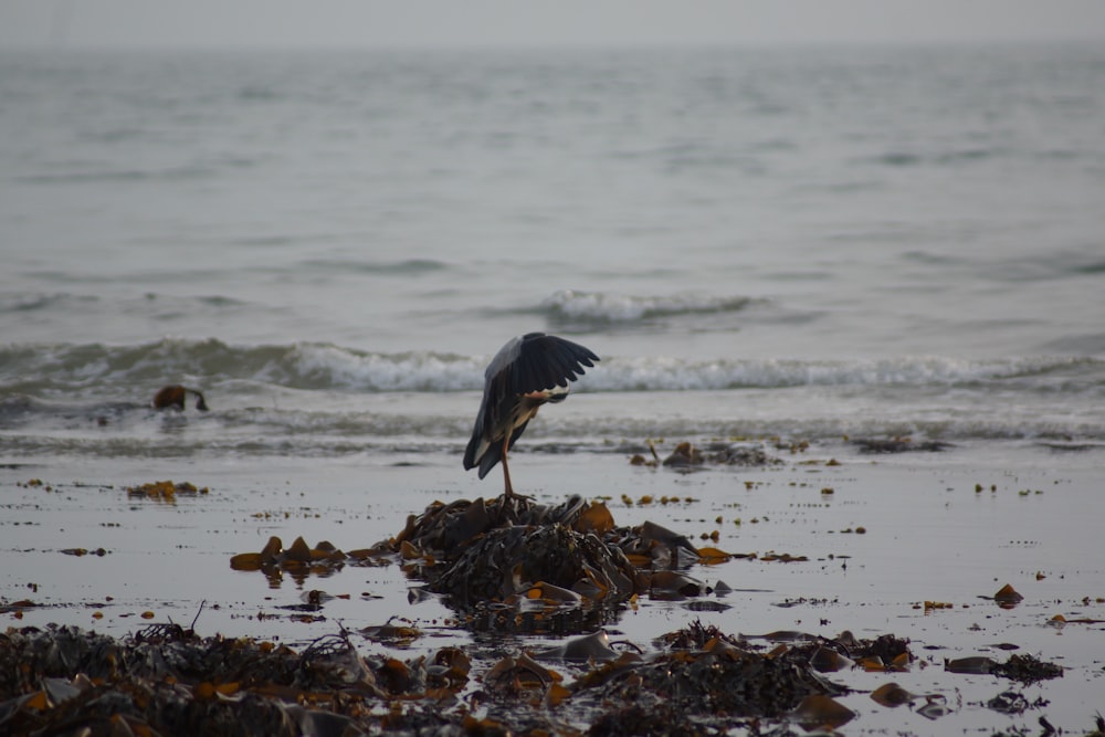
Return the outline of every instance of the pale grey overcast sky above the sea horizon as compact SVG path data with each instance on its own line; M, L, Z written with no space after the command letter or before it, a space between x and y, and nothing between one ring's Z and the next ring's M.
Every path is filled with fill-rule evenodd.
M1105 0L0 0L0 48L1099 39Z

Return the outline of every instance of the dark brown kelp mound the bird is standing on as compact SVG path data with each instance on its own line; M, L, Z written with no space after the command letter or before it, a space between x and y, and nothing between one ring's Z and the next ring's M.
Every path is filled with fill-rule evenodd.
M728 556L699 551L651 522L618 527L606 504L580 496L555 506L506 497L434 503L389 545L408 575L475 614L473 627L523 631L593 630L638 596L711 593L686 568Z

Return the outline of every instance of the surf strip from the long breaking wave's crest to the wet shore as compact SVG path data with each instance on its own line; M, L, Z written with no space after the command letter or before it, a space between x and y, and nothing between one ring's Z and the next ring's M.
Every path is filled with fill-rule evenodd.
M488 358L213 339L9 344L0 436L13 457L460 453ZM202 390L213 411L151 410L167 383ZM591 397L543 415L527 451L639 452L630 445L655 436L1105 441L1095 358L604 356L573 388Z

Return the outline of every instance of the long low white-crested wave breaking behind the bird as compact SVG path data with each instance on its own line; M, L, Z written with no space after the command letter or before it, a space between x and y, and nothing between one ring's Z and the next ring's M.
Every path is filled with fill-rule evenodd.
M372 352L325 343L235 346L220 340L9 344L0 346L0 393L134 396L165 383L252 382L303 391L455 392L483 388L488 356ZM702 391L801 386L1101 389L1105 361L1038 356L967 360L939 356L864 360L693 360L604 356L580 391Z

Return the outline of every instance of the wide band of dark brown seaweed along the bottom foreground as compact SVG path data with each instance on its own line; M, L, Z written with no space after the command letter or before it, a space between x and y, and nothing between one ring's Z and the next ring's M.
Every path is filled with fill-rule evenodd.
M389 620L360 634L404 629ZM871 657L911 657L907 641L892 634L775 633L778 639L759 645L698 621L659 638L652 652L611 643L599 630L543 652L484 659L456 646L411 659L361 652L354 634L343 630L295 650L202 638L172 622L122 639L75 627L9 629L0 634L0 734L698 735L746 728L781 735L793 734L788 725L829 730L855 717L838 701L850 689L814 664L824 651L853 668ZM1043 671L1062 674L1031 657L1001 665L1008 671L987 672L1024 683ZM888 708L911 704L927 718L948 712L943 695L914 694L893 682L870 695ZM1036 706L1015 692L987 705L1008 713Z

